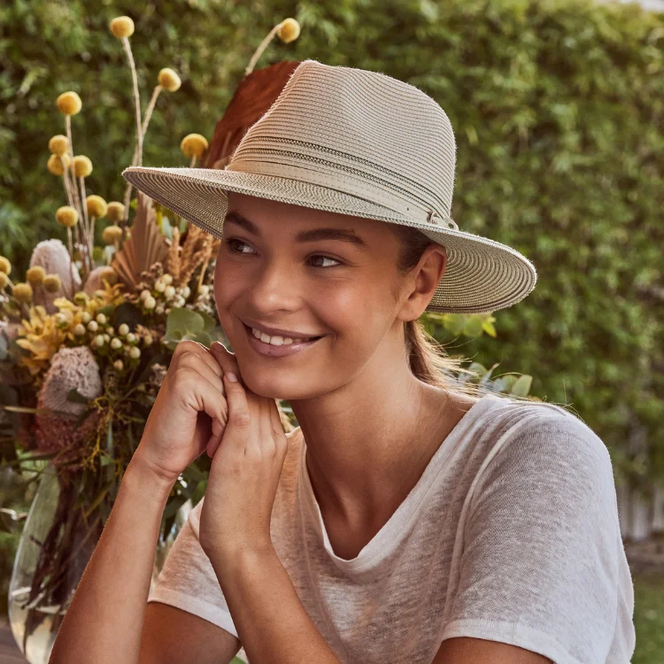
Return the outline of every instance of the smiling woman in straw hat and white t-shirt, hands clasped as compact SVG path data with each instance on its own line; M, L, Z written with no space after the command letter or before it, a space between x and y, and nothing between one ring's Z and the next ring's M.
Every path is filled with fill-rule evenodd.
M227 169L127 168L223 237L234 353L178 345L51 661L629 661L606 446L556 405L452 382L418 322L536 281L459 230L454 164L421 90L306 60ZM205 450L148 598L168 491Z

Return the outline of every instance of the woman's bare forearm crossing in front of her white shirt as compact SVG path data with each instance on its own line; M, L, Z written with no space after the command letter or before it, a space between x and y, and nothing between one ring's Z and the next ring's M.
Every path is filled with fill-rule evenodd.
M251 664L341 664L274 550L210 560Z

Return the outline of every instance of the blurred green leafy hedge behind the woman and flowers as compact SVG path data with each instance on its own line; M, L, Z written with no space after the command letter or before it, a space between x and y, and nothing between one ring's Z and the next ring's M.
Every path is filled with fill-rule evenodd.
M302 34L274 42L259 67L314 58L434 97L457 137L453 218L523 252L539 282L496 314L498 344L488 330L461 344L429 325L451 353L534 376L532 393L571 405L618 472L664 474L662 15L591 0L3 4L0 248L20 274L37 241L65 240L53 221L64 192L46 170L49 138L65 131L61 92L83 101L73 149L95 166L88 193L122 197L135 120L125 54L108 30L122 14L135 20L143 107L161 67L182 78L158 99L146 166L186 166L182 136L212 138L253 50L288 16Z

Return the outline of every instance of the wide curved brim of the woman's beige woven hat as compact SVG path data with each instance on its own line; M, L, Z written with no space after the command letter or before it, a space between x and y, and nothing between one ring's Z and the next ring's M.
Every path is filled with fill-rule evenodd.
M512 247L482 235L436 228L365 198L319 184L229 169L128 166L122 177L139 191L214 237L222 237L228 191L292 205L418 228L443 244L447 265L427 310L490 313L515 305L535 288L535 266Z

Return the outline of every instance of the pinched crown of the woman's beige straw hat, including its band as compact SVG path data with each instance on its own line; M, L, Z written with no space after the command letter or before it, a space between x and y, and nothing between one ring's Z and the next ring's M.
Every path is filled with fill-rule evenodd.
M227 169L287 168L297 180L364 192L395 212L428 221L433 212L452 224L455 166L452 123L421 89L308 59L248 129Z

